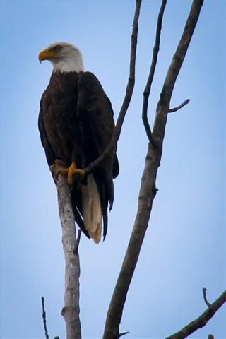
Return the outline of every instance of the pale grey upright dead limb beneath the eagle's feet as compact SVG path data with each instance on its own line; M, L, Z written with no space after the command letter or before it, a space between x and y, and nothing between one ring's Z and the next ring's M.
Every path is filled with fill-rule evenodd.
M79 319L79 276L80 262L78 242L76 239L76 227L71 206L71 194L67 178L57 175L57 195L59 204L59 216L62 227L62 242L65 258L65 294L64 307L61 315L66 323L66 339L81 339L81 323Z

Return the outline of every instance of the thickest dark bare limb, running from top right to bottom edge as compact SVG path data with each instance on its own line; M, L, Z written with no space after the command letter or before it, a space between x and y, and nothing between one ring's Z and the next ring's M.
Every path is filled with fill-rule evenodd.
M203 0L194 0L191 5L191 11L186 21L182 38L169 66L162 92L160 94L160 100L157 104L157 112L152 134L153 140L155 141L155 148L153 148L151 143L148 144L145 168L143 170L141 189L138 197L136 220L129 240L129 246L126 250L124 262L122 263L121 271L119 273L119 278L109 304L103 339L114 339L119 335L119 324L124 304L126 302L126 295L133 277L133 272L136 268L136 263L138 261L138 256L141 251L141 246L150 219L153 199L155 197L153 187L155 187L157 169L160 166L162 156L162 143L165 136L167 113L169 112L169 103L172 97L172 91L196 27L202 5Z

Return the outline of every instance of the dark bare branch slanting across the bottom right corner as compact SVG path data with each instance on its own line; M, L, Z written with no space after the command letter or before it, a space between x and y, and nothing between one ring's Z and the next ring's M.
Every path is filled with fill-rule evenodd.
M218 309L220 309L222 304L224 304L225 302L226 291L223 292L222 295L220 295L220 297L218 297L218 299L213 302L213 304L210 304L210 307L208 307L208 309L206 309L206 311L203 312L201 316L198 316L198 318L196 318L194 321L191 321L189 325L182 328L182 330L180 330L179 332L170 335L169 337L167 337L167 339L184 339L188 337L191 333L197 331L198 328L202 328L203 326L205 326L206 323L208 323L208 321L214 316L215 312L218 311ZM213 338L213 336L211 338Z

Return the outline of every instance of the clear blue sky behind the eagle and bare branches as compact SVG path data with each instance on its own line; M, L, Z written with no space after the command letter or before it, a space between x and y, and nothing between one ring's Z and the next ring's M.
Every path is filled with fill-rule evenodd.
M162 82L191 1L168 1L150 95L153 122ZM120 175L106 241L81 239L83 338L101 338L136 215L147 138L141 122L160 1L143 1L136 85L118 145ZM51 64L37 60L52 42L83 53L117 117L129 75L134 1L1 1L1 338L65 338L64 254L57 191L37 131ZM172 96L159 189L121 320L125 338L165 338L225 289L225 1L205 1ZM191 338L226 338L225 309Z

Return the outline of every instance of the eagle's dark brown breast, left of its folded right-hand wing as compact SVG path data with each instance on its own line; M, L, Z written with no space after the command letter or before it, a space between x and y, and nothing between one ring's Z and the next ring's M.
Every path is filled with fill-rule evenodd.
M42 99L43 121L49 143L57 158L64 160L67 165L71 163L73 148L78 153L77 156L75 155L77 158L79 158L81 148L79 122L76 114L77 81L78 74L76 72L53 73Z

